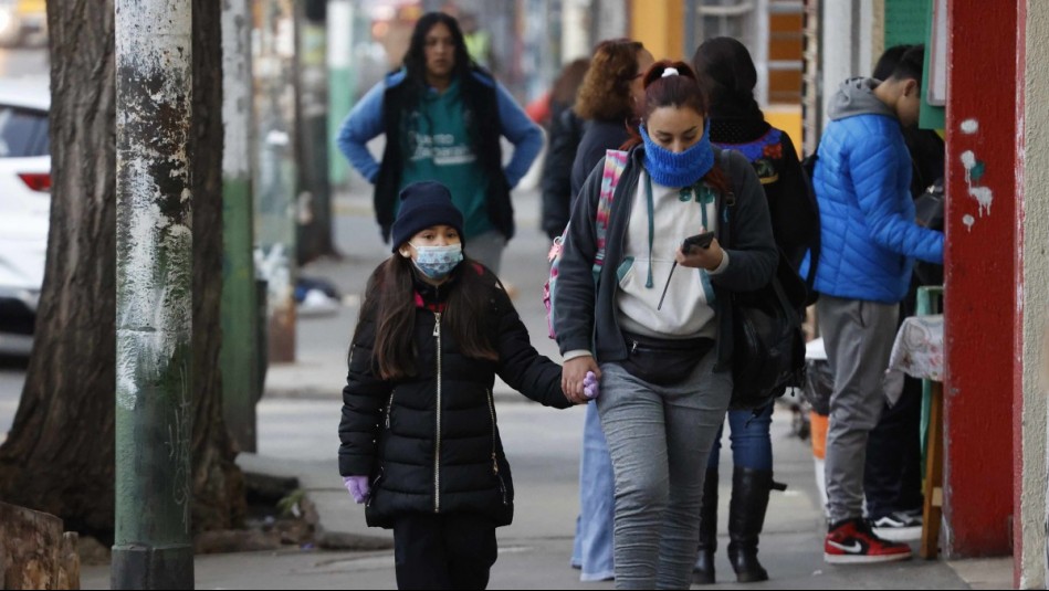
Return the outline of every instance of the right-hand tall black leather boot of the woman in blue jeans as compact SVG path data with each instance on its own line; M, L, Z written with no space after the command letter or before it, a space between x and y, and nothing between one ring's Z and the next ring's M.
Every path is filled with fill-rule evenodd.
M773 483L773 473L736 467L732 474L732 502L728 504L728 561L736 581L767 581L768 572L757 560L757 539L765 525L768 492L783 485Z

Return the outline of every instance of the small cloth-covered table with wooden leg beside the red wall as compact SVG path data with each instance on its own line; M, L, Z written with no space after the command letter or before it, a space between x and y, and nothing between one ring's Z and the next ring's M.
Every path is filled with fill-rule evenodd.
M900 400L903 374L925 380L922 433L925 450L925 506L919 555L936 558L943 515L943 315L911 316L903 320L885 371L885 397Z

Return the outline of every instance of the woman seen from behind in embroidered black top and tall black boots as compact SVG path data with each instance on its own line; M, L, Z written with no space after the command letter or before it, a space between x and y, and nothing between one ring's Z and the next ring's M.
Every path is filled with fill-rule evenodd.
M808 191L790 137L765 122L754 99L757 71L751 53L735 39L714 38L695 50L692 65L711 97L711 143L736 150L749 160L765 190L776 244L797 268L811 234L819 229L806 224ZM757 560L757 542L773 488L773 445L768 435L772 418L773 403L756 412L728 411L734 466L728 561L742 583L768 579L768 572ZM700 556L693 574L693 582L699 584L714 582L720 455L718 432L706 464L700 513Z

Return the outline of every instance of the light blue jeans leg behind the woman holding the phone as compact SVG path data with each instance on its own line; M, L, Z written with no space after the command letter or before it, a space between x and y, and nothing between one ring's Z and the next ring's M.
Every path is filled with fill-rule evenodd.
M616 487L612 458L601 431L597 402L587 404L579 458L579 518L571 548L571 566L583 570L580 581L605 581L615 576L612 526Z

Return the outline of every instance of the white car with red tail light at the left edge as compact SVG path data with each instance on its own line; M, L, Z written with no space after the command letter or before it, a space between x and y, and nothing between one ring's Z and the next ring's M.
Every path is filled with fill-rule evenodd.
M46 78L0 80L0 353L29 355L51 215Z

